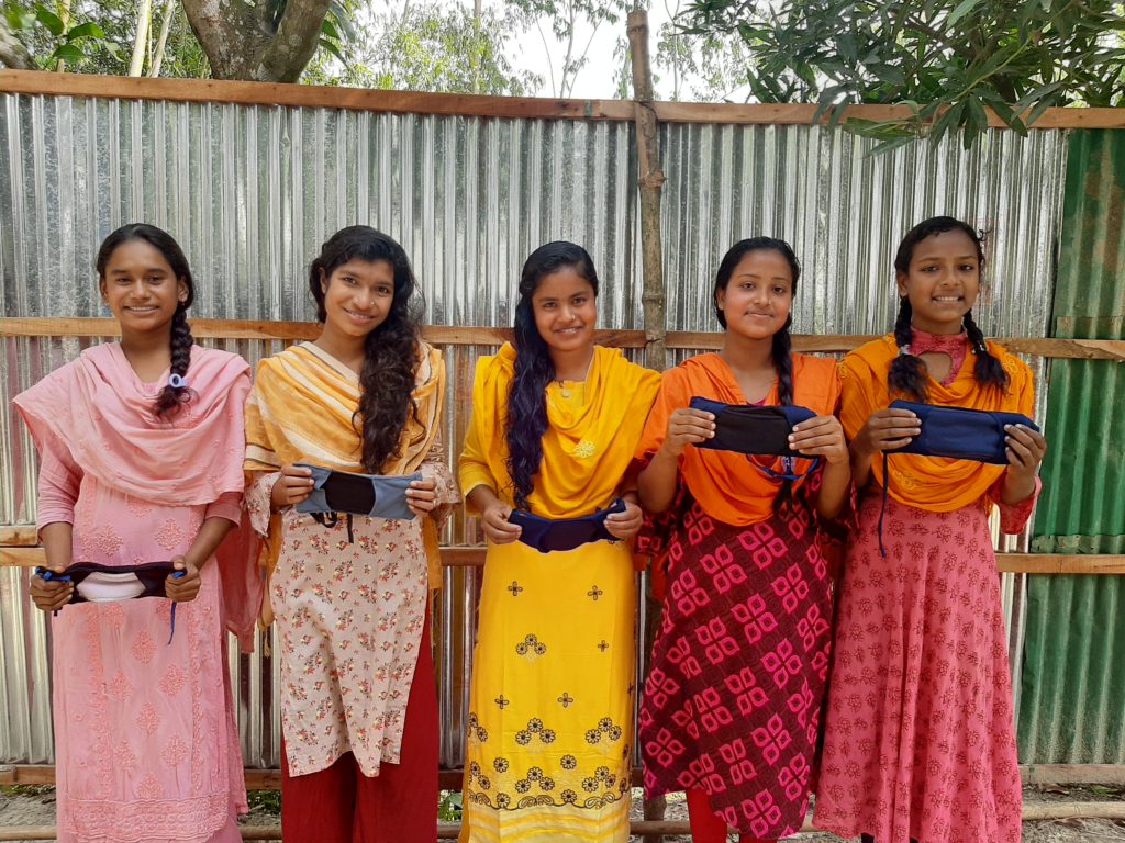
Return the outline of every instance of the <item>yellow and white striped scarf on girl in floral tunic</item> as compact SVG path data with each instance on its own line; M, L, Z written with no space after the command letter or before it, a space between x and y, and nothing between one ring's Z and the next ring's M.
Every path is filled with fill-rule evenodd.
M380 474L417 471L438 435L446 396L446 364L441 352L418 342L418 362L412 393L417 407L406 414L398 455ZM254 389L246 402L246 472L279 471L282 465L314 465L366 473L363 443L352 417L359 407L359 377L312 343L295 345L258 364ZM422 519L430 583L440 582L438 528ZM272 573L281 550L281 518L270 518L261 563Z

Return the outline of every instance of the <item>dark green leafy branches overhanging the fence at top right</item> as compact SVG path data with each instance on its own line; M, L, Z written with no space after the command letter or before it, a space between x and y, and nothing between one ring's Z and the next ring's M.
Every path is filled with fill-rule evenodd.
M986 107L1026 133L1052 106L1116 106L1125 94L1117 0L694 0L693 34L737 34L763 102L904 103L912 117L849 121L886 145L961 127L970 146Z

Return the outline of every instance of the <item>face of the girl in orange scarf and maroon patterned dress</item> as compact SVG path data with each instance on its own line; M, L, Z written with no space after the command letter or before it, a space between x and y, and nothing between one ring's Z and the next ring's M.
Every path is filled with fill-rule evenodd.
M727 330L749 339L766 339L783 327L793 309L793 270L781 252L747 252L724 288L714 294Z

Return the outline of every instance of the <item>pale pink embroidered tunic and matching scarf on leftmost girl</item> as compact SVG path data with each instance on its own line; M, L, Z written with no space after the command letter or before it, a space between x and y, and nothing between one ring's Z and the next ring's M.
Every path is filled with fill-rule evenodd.
M19 396L17 406L42 457L39 527L72 524L74 562L132 565L187 552L205 518L237 524L242 496L235 489L207 502L172 505L129 495L105 472L118 465L123 482L133 486L130 466L147 461L155 483L176 488L180 475L169 473L160 439L169 443L165 455L189 454L172 441L190 437L199 422L215 437L208 447L219 454L230 450L241 468L246 369L235 355L194 347L188 379L198 399L171 424L152 422L155 437L128 453L118 450L127 446L110 417L135 413L144 427L141 414L166 374L159 383L141 382L116 343L88 350ZM60 390L69 407L58 405ZM213 395L216 390L222 395ZM84 399L94 396L97 402L84 404L88 424L82 424ZM115 396L117 406L109 404ZM207 419L199 418L202 413ZM104 459L88 456L92 451ZM237 474L224 474L222 462L222 456L209 465L197 459L180 466L186 473L217 472L212 484L184 481L184 497L237 484ZM171 601L162 598L78 604L52 618L60 841L241 839L235 814L246 812L246 795L214 559L201 579L196 599L177 609L171 641Z

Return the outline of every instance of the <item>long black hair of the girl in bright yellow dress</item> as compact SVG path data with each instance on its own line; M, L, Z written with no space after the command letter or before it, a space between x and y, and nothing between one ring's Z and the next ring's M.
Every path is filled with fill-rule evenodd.
M520 275L520 301L515 306L515 377L507 396L507 471L515 505L528 509L536 474L543 460L547 433L547 384L555 380L555 362L547 342L536 327L531 297L547 275L570 266L594 288L597 271L590 253L567 241L540 246L529 255Z

